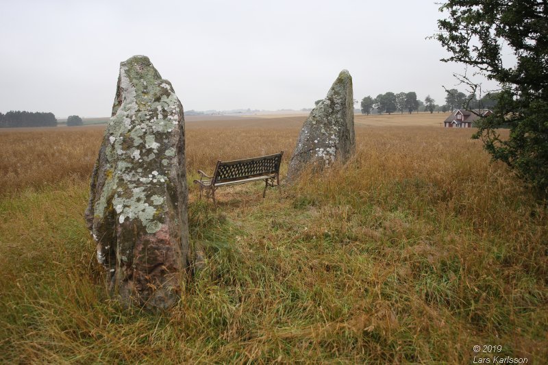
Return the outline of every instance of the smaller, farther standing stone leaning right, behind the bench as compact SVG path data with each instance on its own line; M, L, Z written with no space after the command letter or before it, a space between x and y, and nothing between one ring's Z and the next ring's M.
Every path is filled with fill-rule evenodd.
M343 70L304 122L286 182L294 182L306 166L323 169L336 160L345 162L355 150L352 77Z

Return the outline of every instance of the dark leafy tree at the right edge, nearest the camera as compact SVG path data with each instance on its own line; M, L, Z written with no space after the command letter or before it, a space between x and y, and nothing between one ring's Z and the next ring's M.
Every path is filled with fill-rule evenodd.
M543 194L548 194L548 3L538 0L449 0L434 35L450 53L443 62L462 62L501 90L493 114L477 122L481 139L495 160ZM503 49L504 46L504 49ZM503 55L513 53L510 64ZM477 83L460 75L473 90ZM498 128L508 126L509 138Z

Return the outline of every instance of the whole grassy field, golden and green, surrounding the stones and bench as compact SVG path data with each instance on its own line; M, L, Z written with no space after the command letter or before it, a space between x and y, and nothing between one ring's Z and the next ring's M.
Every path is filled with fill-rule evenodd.
M305 118L187 118L208 258L165 314L103 286L83 215L104 126L0 131L1 359L463 364L494 344L545 363L547 207L443 114L356 116L344 168L199 201L217 160L285 151L283 177Z

